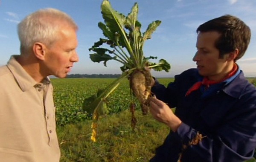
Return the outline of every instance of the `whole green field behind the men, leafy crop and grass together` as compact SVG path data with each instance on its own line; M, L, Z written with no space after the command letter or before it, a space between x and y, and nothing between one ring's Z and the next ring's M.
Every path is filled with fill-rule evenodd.
M148 114L143 116L137 103L137 126L131 129L131 100L128 80L110 95L108 114L99 119L96 142L90 140L91 114L82 111L84 98L105 88L113 78L52 78L61 147L61 162L148 162L163 143L169 128ZM167 85L173 78L161 78ZM248 78L256 85L255 78ZM252 161L254 162L254 161Z

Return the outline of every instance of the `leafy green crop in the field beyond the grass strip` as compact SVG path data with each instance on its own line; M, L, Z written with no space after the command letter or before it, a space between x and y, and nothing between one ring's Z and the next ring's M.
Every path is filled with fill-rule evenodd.
M84 98L105 88L114 78L52 78L57 125L74 124L91 119L91 114L82 111ZM167 85L172 78L161 78ZM123 80L119 87L109 96L109 114L118 113L129 108L131 99L128 80ZM137 108L140 108L137 106Z

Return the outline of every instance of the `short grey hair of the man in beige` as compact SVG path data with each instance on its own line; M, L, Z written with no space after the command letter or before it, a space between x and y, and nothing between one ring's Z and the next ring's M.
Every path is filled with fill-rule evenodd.
M40 9L29 14L18 24L21 54L29 52L35 42L51 46L57 39L58 29L63 26L78 30L74 20L58 9Z

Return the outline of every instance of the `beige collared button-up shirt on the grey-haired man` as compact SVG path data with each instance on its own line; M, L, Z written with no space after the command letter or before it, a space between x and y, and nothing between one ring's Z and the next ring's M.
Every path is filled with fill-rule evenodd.
M52 84L37 83L15 57L0 67L0 161L59 162Z

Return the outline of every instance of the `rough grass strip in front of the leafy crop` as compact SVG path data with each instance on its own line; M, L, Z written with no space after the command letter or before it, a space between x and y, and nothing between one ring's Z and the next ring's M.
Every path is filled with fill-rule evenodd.
M134 131L128 110L101 118L96 142L90 140L91 120L58 127L61 162L148 162L169 128L139 110L136 118Z

